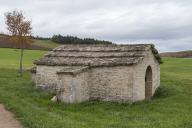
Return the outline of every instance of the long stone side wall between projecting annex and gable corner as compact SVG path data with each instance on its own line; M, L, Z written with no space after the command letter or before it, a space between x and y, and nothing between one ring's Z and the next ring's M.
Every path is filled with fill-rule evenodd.
M129 66L93 68L89 72L90 99L130 102L132 73Z

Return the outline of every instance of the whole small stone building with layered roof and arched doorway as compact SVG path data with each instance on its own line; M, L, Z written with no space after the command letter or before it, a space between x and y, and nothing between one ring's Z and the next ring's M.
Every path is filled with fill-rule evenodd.
M65 103L135 102L160 85L161 58L151 44L62 45L34 63L36 87Z

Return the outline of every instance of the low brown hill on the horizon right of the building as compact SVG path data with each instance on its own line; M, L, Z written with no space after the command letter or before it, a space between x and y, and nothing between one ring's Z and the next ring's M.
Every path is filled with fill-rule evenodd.
M192 50L161 53L162 57L192 58Z

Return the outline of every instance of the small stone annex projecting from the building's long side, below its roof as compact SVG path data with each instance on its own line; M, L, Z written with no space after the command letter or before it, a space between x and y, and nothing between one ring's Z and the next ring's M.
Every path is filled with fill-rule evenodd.
M57 98L65 103L78 103L89 100L88 73L77 75L59 74Z

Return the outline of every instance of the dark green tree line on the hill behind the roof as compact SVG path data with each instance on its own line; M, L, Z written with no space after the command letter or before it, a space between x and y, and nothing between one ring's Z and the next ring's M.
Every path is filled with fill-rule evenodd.
M93 38L78 38L74 36L53 35L52 41L60 44L112 44L110 41L96 40Z

